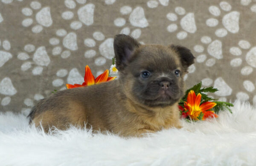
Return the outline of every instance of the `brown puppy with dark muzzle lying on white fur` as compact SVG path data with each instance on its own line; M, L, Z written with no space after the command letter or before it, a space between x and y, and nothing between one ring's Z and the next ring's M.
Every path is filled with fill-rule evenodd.
M121 136L180 128L178 102L184 95L183 76L195 58L189 49L140 45L119 34L114 51L119 79L58 91L32 108L30 123L42 125L45 131L74 125Z

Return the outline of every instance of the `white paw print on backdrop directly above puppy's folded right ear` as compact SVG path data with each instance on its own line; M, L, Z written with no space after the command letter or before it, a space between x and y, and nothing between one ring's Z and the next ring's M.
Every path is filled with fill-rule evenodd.
M178 6L175 8L175 13L170 12L166 14L167 19L174 22L168 25L166 28L167 31L171 33L176 32L178 29L177 23L175 23L178 20L177 14L180 16L183 16L186 14L186 10ZM180 26L184 31L180 31L176 34L177 39L180 39L180 40L185 39L188 36L188 33L194 34L197 31L194 13L187 13L185 16L183 16L180 20Z

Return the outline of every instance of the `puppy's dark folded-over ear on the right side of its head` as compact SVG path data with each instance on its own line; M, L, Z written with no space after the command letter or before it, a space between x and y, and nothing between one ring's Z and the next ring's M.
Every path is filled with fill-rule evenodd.
M185 70L187 70L188 67L194 63L195 57L188 48L182 47L180 45L170 45L169 48L172 48L178 53L180 56L181 64Z

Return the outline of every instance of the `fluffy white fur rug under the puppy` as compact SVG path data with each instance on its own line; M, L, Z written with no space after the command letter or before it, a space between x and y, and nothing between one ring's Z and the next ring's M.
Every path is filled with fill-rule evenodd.
M0 166L256 166L256 109L232 110L129 139L75 128L47 135L24 115L1 113Z

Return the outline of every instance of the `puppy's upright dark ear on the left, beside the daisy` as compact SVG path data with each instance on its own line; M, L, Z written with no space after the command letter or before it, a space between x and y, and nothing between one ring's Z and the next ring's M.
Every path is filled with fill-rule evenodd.
M116 58L116 68L122 70L128 64L136 48L140 44L134 38L125 34L118 34L114 39L114 51Z

